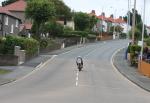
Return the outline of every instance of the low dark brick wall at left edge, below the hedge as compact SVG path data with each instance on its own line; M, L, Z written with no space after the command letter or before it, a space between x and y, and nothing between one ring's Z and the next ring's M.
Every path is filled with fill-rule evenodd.
M14 55L2 55L0 54L0 65L1 66L14 66L18 65L19 58Z

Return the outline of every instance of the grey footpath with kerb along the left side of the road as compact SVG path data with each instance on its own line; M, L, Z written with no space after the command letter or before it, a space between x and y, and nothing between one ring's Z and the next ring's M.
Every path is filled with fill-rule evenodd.
M51 59L54 55L59 55L64 52L68 52L75 48L83 47L84 45L74 45L71 47L54 50L49 53L43 53L39 56L27 61L26 63L19 65L19 66L0 66L0 69L2 70L9 70L11 72L7 74L1 74L0 75L0 85L4 85L7 83L10 83L12 81L15 81L19 78L22 78L29 74L30 72L42 67L42 65L47 62L49 59Z

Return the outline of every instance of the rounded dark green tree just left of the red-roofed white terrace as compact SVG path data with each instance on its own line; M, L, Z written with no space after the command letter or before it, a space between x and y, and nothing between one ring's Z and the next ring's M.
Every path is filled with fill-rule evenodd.
M85 31L90 25L89 15L82 12L76 12L74 14L74 22L76 30Z

